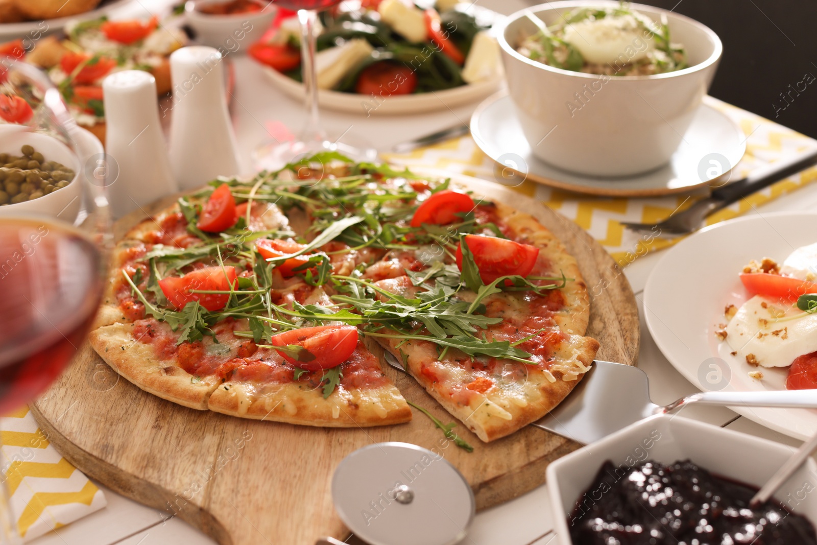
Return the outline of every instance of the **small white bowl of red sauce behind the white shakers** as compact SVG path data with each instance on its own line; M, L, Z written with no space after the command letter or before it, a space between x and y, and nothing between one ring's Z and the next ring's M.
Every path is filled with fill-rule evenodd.
M247 51L251 43L261 39L278 12L278 7L274 4L255 13L226 16L203 13L198 9L224 2L225 0L188 0L185 3L187 22L196 34L195 41L203 46L216 47L221 56Z

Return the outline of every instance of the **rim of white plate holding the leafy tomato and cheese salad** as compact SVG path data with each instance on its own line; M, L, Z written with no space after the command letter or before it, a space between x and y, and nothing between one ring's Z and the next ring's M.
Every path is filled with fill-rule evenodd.
M278 87L286 95L297 101L303 100L303 83L297 82L281 74L278 70L269 67L265 67L264 72L272 80L272 83L275 83L275 87ZM318 91L318 104L321 108L335 109L350 114L363 114L367 117L372 114L419 114L478 101L495 92L501 83L502 78L498 77L444 91L387 96L377 99L373 96L359 95L357 93L320 89Z

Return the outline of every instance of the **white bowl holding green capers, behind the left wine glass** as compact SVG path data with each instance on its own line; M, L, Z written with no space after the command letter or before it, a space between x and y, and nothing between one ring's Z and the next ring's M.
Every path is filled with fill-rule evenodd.
M27 132L20 125L0 125L0 153L20 155L20 148L26 144L33 146L47 161L56 161L73 170L74 179L64 188L42 195L39 199L0 206L0 216L39 214L73 223L82 203L80 161L77 155L53 136Z

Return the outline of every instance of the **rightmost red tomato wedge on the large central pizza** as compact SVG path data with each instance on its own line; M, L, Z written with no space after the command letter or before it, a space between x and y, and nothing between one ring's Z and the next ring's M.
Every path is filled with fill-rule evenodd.
M497 237L466 235L465 243L474 255L480 278L490 284L500 276L527 276L534 270L539 248ZM462 247L457 246L457 266L462 270Z

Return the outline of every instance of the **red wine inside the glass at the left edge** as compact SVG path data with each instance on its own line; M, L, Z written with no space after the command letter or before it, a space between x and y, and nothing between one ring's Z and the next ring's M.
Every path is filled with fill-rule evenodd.
M100 302L101 260L69 227L0 219L0 415L44 391L82 344Z

